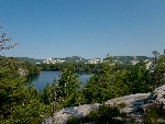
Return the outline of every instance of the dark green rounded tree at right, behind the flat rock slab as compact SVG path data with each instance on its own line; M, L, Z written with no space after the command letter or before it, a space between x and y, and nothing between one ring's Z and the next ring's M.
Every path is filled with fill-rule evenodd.
M130 65L123 81L128 86L129 94L150 92L153 90L152 77L144 63Z

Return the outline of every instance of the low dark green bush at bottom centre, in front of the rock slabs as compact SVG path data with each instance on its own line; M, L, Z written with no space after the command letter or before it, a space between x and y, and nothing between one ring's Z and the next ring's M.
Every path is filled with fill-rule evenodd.
M70 117L67 124L84 124L88 122L95 122L96 124L123 124L124 117L125 114L120 113L118 108L100 105L98 110L89 112L87 116L80 119Z

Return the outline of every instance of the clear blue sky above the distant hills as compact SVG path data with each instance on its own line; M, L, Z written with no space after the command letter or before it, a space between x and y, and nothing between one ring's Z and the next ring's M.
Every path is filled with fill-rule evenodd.
M0 23L19 46L4 56L103 58L165 49L165 0L0 0Z

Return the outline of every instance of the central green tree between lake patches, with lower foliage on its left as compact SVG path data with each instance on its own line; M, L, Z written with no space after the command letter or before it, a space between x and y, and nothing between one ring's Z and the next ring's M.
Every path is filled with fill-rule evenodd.
M42 101L52 104L53 108L62 109L70 105L78 105L81 102L80 82L75 67L69 64L61 72L59 80L47 84L42 92Z

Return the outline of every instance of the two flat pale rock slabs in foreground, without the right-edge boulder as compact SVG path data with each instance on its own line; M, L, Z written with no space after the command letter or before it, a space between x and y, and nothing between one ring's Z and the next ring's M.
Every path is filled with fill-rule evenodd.
M121 109L121 112L132 113L136 108L144 104L144 100L148 95L150 93L130 94L108 100L107 102L105 102L105 104L113 106L124 103L125 106ZM99 103L96 103L66 108L55 113L53 116L50 116L47 120L45 120L45 122L43 122L43 124L65 124L70 116L86 116L90 111L98 109L99 105Z

